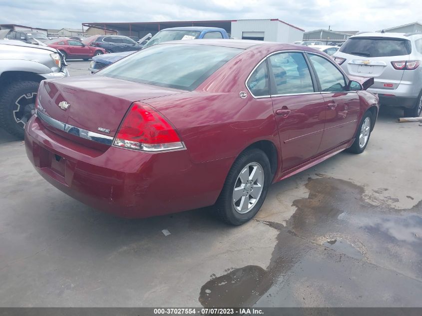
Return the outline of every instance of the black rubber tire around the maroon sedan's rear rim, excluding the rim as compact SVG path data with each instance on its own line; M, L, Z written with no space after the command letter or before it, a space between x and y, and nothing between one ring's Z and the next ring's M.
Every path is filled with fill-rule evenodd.
M241 214L235 209L233 192L241 171L250 163L258 163L262 167L264 180L261 194L257 198L255 205L253 205L246 213ZM270 161L267 155L258 148L245 150L233 163L229 174L227 175L226 181L224 182L223 190L221 191L215 205L218 217L231 225L242 225L251 220L264 203L271 182L272 177Z

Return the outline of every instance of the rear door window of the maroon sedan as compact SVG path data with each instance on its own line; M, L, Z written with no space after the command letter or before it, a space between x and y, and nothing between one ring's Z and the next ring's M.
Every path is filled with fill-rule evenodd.
M269 58L276 91L272 94L314 92L311 73L302 53L280 53Z

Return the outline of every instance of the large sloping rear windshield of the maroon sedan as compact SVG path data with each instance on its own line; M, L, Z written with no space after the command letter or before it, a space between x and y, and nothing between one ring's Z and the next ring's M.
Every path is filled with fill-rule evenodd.
M116 61L97 74L192 91L242 51L195 44L154 45Z

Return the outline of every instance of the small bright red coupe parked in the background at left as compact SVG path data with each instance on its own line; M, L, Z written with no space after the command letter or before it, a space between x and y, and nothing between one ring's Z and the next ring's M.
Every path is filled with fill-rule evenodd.
M106 53L103 48L87 46L76 39L70 38L56 38L46 41L45 44L58 49L64 59L74 58L88 60L94 56Z

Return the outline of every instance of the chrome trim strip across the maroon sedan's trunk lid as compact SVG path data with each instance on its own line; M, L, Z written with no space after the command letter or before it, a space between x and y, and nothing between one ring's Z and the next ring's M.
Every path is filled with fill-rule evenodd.
M88 140L92 140L94 142L97 143L101 143L101 144L105 144L105 145L110 145L113 143L113 138L111 136L106 136L106 135L102 135L99 133L95 133L95 132L91 132L88 131L86 129L82 129L73 125L69 125L63 122L60 122L50 116L48 116L45 113L42 113L38 110L35 111L35 115L36 117L40 118L41 120L43 120L45 123L47 123L48 125L57 128L58 130L61 130L63 132L84 138L84 139L88 139Z

